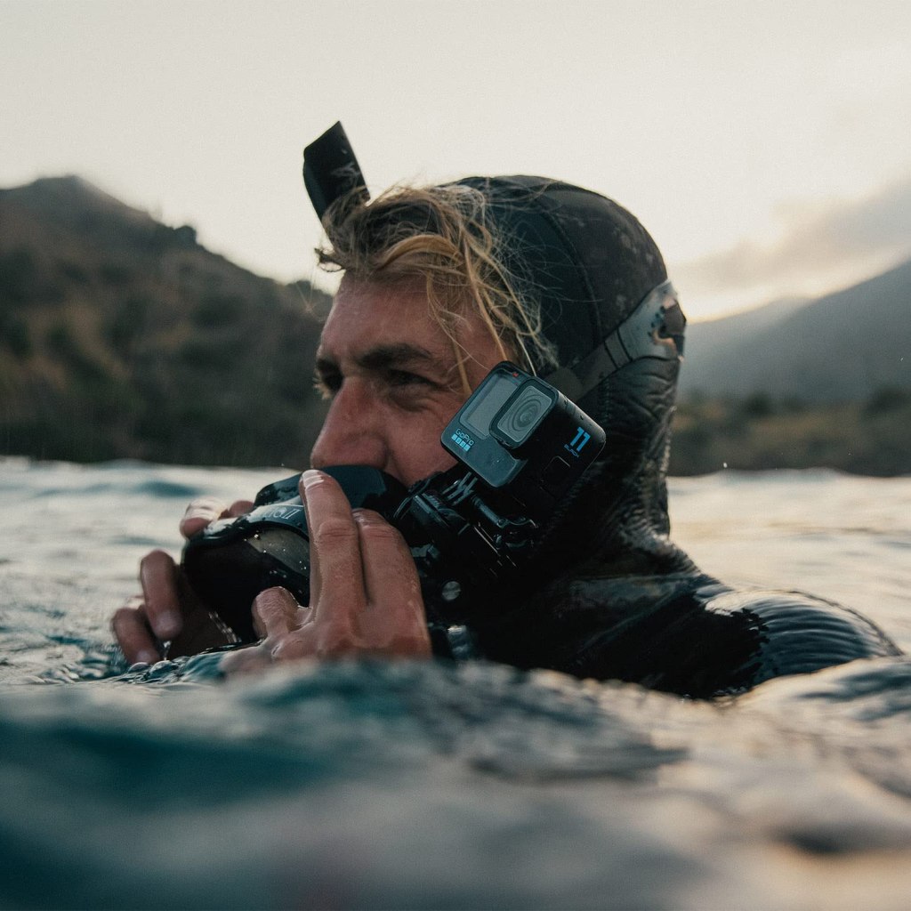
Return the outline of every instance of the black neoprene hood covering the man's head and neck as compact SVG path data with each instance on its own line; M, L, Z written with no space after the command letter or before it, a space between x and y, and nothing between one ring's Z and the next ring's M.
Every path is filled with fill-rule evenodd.
M459 182L489 200L487 224L501 236L521 292L537 298L562 368L590 360L667 281L655 241L613 200L539 177ZM607 442L548 528L544 549L551 566L591 557L618 575L691 568L667 540L665 473L685 322L675 309L673 338L664 336L673 356L667 348L646 349L619 368L612 365L577 396L603 426ZM535 366L551 382L563 373Z

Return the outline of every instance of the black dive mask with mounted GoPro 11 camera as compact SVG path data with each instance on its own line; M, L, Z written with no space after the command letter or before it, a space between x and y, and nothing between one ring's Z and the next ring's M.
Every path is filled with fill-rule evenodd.
M604 431L552 385L499 363L446 425L457 464L405 489L367 466L322 469L352 507L374 509L404 535L428 623L465 623L479 595L517 578L538 534L604 446ZM192 537L189 583L241 641L256 635L253 599L273 586L309 603L310 540L295 475L263 487L246 516ZM481 599L483 600L483 599Z

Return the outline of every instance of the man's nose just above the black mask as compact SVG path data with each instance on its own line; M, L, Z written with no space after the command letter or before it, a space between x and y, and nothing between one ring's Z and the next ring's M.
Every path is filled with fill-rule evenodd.
M365 465L384 469L386 456L378 403L366 384L346 379L322 422L322 430L310 454L310 464L314 468Z

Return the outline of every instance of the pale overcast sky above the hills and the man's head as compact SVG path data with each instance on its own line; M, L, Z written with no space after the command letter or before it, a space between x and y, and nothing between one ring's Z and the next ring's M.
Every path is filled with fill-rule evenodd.
M0 187L78 174L327 281L302 148L374 191L534 173L658 241L691 320L911 256L906 0L0 0Z

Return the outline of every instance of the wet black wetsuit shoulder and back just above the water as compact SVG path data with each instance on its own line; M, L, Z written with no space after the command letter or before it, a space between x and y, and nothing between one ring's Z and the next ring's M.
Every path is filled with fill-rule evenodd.
M692 573L558 579L473 625L476 655L694 698L897 655L853 610L797 592L734 590Z

